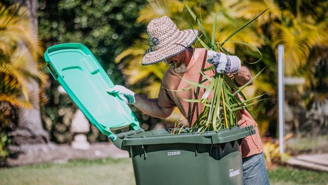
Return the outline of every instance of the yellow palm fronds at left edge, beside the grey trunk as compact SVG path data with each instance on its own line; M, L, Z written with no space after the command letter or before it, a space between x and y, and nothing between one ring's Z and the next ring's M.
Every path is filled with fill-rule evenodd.
M42 55L42 43L35 38L26 7L18 4L6 7L0 3L0 96L17 107L38 106L39 93L27 83L45 84L37 57Z

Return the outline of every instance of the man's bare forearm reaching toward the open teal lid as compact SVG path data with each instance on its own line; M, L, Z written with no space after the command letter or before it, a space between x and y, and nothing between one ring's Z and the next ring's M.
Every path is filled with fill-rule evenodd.
M158 105L158 99L148 99L141 95L135 94L136 102L133 104L142 112L157 118L169 117L174 108L162 108Z

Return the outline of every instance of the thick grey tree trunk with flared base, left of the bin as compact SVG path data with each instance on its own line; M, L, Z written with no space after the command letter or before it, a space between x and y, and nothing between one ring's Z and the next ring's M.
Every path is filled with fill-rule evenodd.
M33 37L36 39L37 43L37 17L36 17L36 0L20 0L17 1L20 6L26 6L29 10L31 17L31 24L33 27ZM32 56L32 55L31 55ZM37 62L34 61L34 67L37 68ZM25 82L27 90L31 95L39 95L39 83L30 78ZM39 96L38 96L39 97ZM40 114L40 101L33 102L30 109L20 109L18 110L18 123L17 127L13 132L8 135L13 137L12 144L9 149L13 153L30 153L35 154L47 149L49 144L49 135L43 129L41 114Z

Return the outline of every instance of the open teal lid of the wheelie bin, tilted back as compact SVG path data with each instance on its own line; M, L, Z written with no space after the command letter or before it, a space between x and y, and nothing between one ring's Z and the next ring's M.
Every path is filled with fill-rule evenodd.
M106 92L114 83L98 61L81 43L63 43L49 47L44 53L47 68L58 80L83 114L102 133L111 137L111 130L139 122L125 101Z

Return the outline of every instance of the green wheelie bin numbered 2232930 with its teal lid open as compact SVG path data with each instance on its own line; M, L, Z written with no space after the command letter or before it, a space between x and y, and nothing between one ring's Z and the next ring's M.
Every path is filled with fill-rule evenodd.
M180 134L144 131L128 105L106 92L114 83L83 44L53 45L44 59L89 121L129 152L137 185L243 184L240 146L244 137L255 133L252 126L202 134L188 129ZM130 131L114 132L127 126Z

